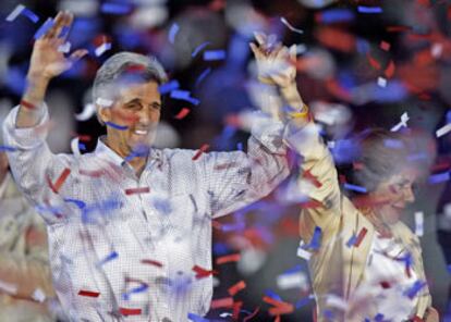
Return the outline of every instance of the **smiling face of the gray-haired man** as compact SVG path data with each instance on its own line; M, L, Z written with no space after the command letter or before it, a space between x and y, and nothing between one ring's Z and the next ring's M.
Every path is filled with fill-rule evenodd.
M103 122L111 122L126 129L107 125L110 148L121 157L139 148L148 148L155 140L160 121L161 97L157 82L132 84L120 90L119 99L111 108L100 110Z

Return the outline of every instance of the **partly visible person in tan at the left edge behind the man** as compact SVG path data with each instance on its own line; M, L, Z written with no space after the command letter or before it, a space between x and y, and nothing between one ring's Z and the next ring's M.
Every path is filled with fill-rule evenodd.
M56 321L46 226L0 152L0 321Z

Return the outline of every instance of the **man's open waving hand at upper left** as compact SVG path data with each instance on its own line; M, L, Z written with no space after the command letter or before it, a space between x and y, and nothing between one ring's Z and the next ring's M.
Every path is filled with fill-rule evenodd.
M28 79L49 82L51 78L65 72L87 53L85 49L74 51L69 58L59 50L69 35L68 28L73 22L73 14L59 12L54 17L53 25L47 33L35 41L28 70ZM60 36L62 30L65 35Z

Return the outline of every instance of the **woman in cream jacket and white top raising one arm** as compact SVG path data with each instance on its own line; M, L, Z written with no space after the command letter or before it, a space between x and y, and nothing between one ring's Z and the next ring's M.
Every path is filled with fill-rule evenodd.
M303 253L310 252L318 321L439 321L419 240L400 221L414 201L412 186L418 177L409 141L383 129L358 137L353 181L365 194L351 201L340 190L333 159L297 92L295 55L280 45L271 48L263 34L256 39L258 46L251 48L260 81L279 86L287 103L297 108L284 115L292 119L287 144L316 183L307 196L318 206L303 209L300 232Z

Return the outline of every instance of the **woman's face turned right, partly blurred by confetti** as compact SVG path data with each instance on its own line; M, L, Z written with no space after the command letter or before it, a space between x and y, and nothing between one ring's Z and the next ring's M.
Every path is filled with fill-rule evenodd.
M400 220L404 208L415 201L413 185L417 176L418 173L415 169L404 169L399 174L382 182L370 194L371 198L385 201L382 206L375 209L376 214L383 223L395 224Z

